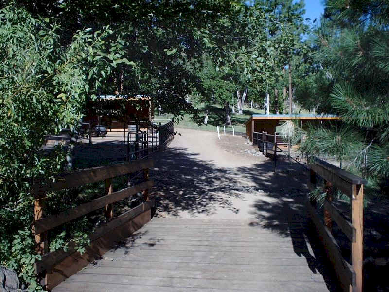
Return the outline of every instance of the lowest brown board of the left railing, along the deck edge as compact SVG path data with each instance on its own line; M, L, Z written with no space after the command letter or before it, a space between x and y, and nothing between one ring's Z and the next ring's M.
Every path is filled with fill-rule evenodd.
M108 250L117 244L117 242L130 236L150 221L150 219L150 210L142 212L137 217L126 222L124 225L111 230L104 237L94 240L91 245L86 248L86 252L84 254L81 255L80 253L75 252L67 256L61 263L54 266L53 269L47 273L47 288L49 290L53 289L72 274L77 273L89 263L93 262L96 258L103 256Z

